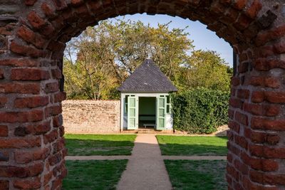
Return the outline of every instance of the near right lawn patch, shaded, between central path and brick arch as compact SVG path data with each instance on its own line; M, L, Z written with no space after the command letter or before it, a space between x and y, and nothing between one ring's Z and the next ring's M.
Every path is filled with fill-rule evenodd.
M173 189L222 190L227 161L220 160L165 160Z

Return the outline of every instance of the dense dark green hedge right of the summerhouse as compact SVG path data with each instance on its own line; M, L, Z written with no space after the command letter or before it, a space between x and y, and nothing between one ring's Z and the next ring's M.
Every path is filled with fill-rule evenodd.
M228 122L229 93L195 88L172 94L175 130L202 134L217 131Z

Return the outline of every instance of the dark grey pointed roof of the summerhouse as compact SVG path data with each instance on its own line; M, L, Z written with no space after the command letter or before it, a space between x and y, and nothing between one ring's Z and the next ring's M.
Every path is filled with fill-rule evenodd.
M146 59L118 90L124 93L169 93L177 88L152 59Z

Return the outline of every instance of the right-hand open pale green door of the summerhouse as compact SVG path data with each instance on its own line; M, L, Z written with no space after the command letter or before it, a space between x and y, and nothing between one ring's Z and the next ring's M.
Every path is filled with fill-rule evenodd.
M165 130L166 97L157 97L156 130Z

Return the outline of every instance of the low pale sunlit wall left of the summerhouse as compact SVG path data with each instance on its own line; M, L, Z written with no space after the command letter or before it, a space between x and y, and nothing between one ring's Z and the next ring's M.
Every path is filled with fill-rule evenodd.
M120 132L119 100L66 100L62 106L66 134Z

